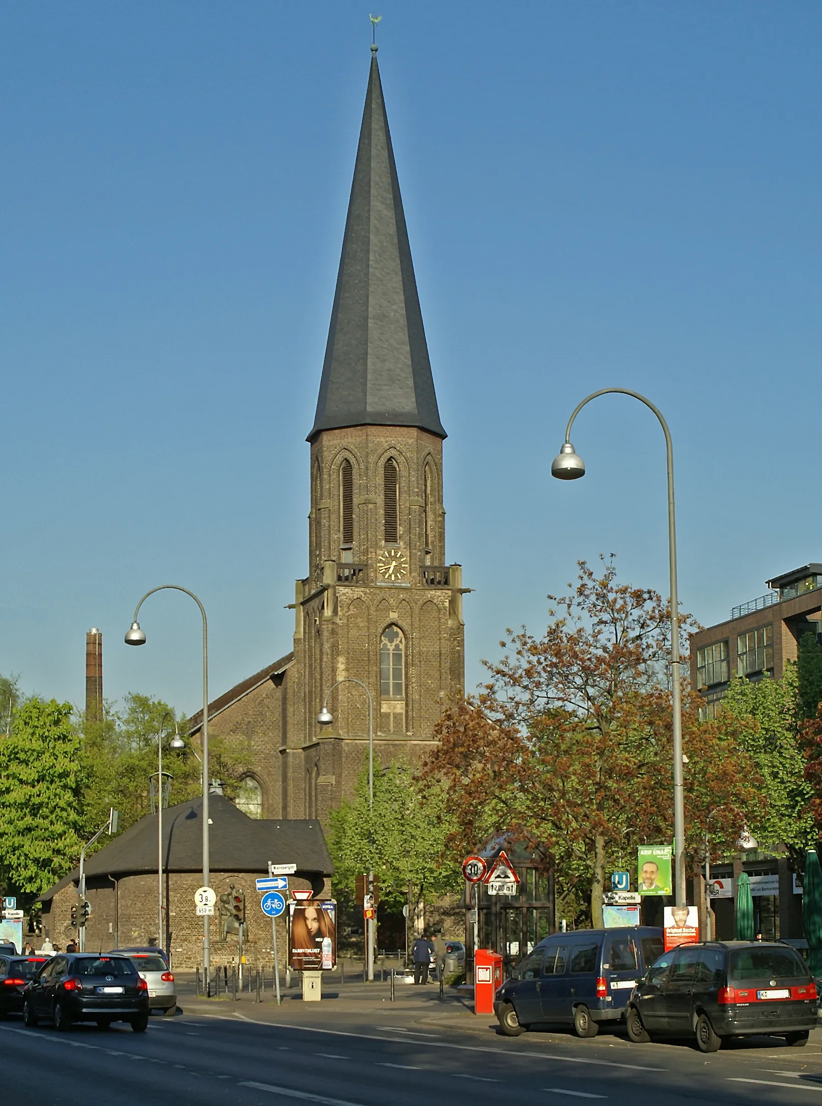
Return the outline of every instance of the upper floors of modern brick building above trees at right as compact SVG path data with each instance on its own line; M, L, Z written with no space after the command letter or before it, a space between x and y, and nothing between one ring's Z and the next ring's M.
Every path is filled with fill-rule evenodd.
M765 595L733 607L730 618L691 635L691 682L714 718L731 676L777 679L804 634L822 630L822 564L805 564L766 581Z

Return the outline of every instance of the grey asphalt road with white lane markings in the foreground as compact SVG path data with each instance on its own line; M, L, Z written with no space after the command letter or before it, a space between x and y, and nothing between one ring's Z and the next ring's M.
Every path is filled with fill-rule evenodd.
M333 1003L310 1013L302 1003L274 1012L203 1005L155 1018L145 1034L119 1025L27 1030L10 1018L0 1023L2 1085L38 1106L499 1106L512 1096L636 1106L649 1093L665 1106L822 1106L819 1043L760 1040L704 1056L687 1044L631 1045L611 1034L512 1040L487 1020L471 1031L439 1027L435 1016L387 1006L351 1014Z

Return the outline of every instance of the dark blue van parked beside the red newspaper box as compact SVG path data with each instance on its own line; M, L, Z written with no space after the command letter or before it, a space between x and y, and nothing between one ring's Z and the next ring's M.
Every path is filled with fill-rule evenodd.
M631 991L662 953L662 930L652 926L552 933L497 988L499 1027L518 1036L556 1022L572 1025L577 1036L596 1036L603 1022L624 1020Z

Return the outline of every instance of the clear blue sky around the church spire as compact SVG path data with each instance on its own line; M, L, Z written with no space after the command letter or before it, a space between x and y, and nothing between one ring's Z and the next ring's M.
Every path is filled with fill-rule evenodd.
M709 624L822 560L822 6L382 2L380 67L464 565L466 681L578 559ZM218 695L288 651L369 63L316 0L0 9L0 671Z

